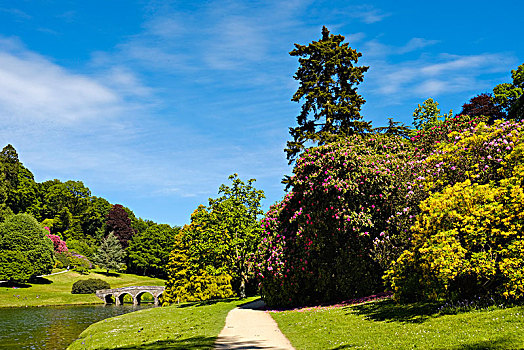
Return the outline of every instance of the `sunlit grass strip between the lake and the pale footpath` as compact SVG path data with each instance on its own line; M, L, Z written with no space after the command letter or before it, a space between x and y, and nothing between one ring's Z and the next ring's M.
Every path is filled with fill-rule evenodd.
M257 298L141 310L92 324L68 349L210 349L238 305Z

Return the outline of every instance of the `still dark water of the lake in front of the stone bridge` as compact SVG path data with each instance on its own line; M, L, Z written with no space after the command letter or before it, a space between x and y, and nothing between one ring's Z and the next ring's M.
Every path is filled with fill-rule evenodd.
M65 349L90 324L152 305L0 308L0 349Z

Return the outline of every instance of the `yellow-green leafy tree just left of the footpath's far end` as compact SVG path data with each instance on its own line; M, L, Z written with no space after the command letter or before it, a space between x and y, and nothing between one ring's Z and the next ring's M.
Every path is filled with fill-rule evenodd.
M253 186L255 179L245 184L234 174L229 180L231 186L220 186L222 196L195 210L183 232L192 265L212 275L231 275L235 291L243 297L253 272L249 259L262 233L258 215L263 214L264 192Z

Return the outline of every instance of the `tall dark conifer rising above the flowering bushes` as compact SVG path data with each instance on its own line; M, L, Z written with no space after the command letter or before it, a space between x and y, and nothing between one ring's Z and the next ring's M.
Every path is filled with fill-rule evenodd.
M297 117L298 126L290 128L293 141L288 141L287 159L291 164L305 148L305 142L323 144L333 135L350 135L370 129L361 121L360 109L365 100L357 93L357 85L369 67L356 66L360 52L343 43L342 35L330 34L322 28L322 38L307 46L295 44L289 54L299 57L295 73L299 81L292 101L304 99Z

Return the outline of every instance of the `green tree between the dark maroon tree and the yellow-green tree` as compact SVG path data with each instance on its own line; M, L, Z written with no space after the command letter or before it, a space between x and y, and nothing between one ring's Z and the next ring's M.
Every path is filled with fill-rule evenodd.
M169 254L179 231L179 227L160 224L133 235L127 248L128 270L145 276L167 277Z

